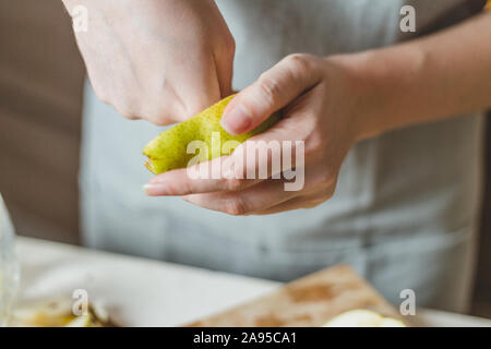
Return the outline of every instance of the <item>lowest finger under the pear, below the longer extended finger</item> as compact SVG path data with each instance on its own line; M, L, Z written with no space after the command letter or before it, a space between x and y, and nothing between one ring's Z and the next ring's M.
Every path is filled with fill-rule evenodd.
M284 180L267 180L239 192L193 194L182 198L207 209L243 216L264 210L299 195L299 192L285 191L284 184Z

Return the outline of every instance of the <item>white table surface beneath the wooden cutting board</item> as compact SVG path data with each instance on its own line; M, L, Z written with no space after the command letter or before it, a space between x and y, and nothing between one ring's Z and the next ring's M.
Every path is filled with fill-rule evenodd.
M124 326L176 326L267 293L280 285L19 238L22 278L20 303L70 298L85 289L91 301L104 303ZM491 326L490 320L418 310L429 326Z

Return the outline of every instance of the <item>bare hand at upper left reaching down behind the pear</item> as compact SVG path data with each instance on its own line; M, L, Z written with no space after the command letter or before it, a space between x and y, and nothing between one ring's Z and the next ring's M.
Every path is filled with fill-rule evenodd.
M129 119L182 121L231 93L233 38L213 0L63 0L96 95Z

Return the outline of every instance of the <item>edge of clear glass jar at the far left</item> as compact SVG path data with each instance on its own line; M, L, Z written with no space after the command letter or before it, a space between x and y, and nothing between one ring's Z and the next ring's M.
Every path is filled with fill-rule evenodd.
M0 194L0 326L5 326L19 287L14 228Z

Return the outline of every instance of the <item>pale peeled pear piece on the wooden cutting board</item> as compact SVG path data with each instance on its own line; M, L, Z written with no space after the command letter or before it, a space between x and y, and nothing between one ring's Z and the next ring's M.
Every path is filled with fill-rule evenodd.
M337 315L322 327L407 327L402 321L384 317L370 310L351 310Z

